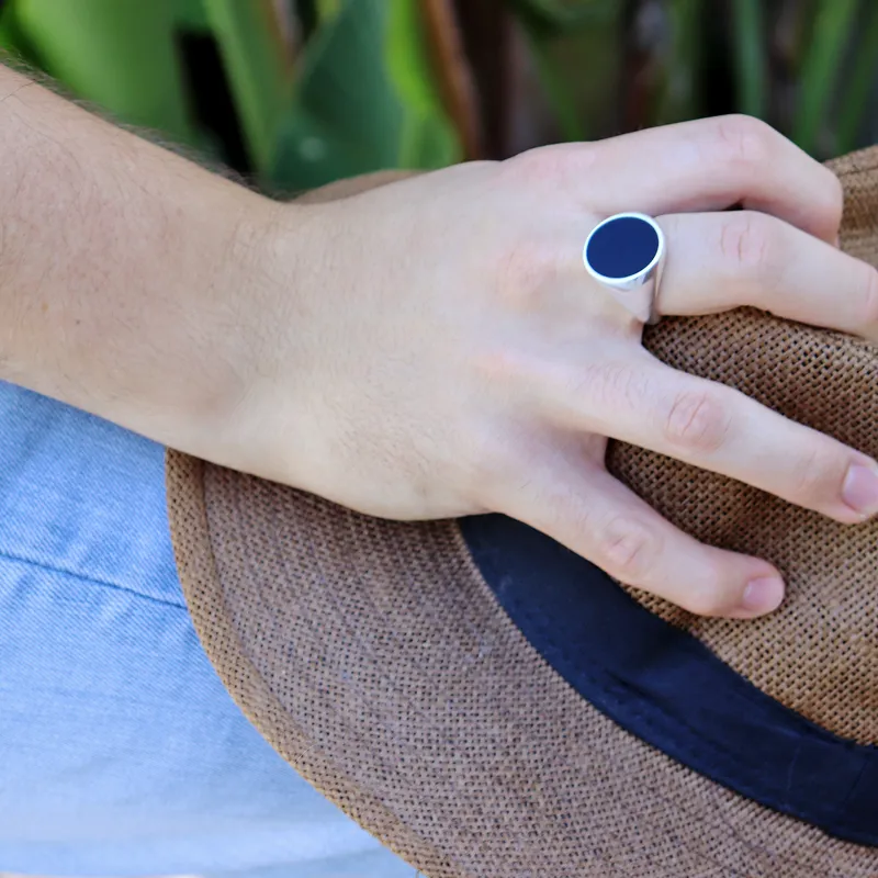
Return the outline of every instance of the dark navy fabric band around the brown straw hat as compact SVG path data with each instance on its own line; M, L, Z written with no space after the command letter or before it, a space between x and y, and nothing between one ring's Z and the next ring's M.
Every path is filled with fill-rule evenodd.
M461 529L499 605L603 713L759 804L878 846L878 748L784 707L538 531L494 515Z

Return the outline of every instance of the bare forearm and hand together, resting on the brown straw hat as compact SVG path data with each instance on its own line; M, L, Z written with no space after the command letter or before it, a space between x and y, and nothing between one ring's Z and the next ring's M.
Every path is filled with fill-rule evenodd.
M783 599L765 561L682 533L607 437L855 525L878 466L676 372L582 264L657 217L664 315L752 305L878 340L838 181L731 116L278 204L0 68L0 378L367 514L500 511L703 615ZM740 205L741 211L723 212Z

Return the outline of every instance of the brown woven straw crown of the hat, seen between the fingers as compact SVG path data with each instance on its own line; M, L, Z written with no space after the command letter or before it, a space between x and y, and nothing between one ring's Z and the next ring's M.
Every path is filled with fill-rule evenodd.
M843 247L878 264L878 149L838 159L847 192ZM840 294L842 292L840 291ZM644 345L878 458L878 348L762 312L668 319ZM610 469L705 542L766 558L788 582L758 621L705 619L644 594L768 695L824 728L878 742L878 524L837 525L756 488L630 446Z

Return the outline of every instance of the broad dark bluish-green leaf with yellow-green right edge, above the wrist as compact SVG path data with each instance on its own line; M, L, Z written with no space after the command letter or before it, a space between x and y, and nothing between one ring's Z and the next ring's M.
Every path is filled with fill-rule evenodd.
M462 157L441 105L418 4L340 0L308 42L270 175L297 191Z

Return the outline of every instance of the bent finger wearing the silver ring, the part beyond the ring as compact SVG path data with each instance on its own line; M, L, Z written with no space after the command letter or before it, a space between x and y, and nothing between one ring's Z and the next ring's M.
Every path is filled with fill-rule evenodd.
M661 218L668 240L661 314L752 305L878 340L878 271L773 216L752 211Z

